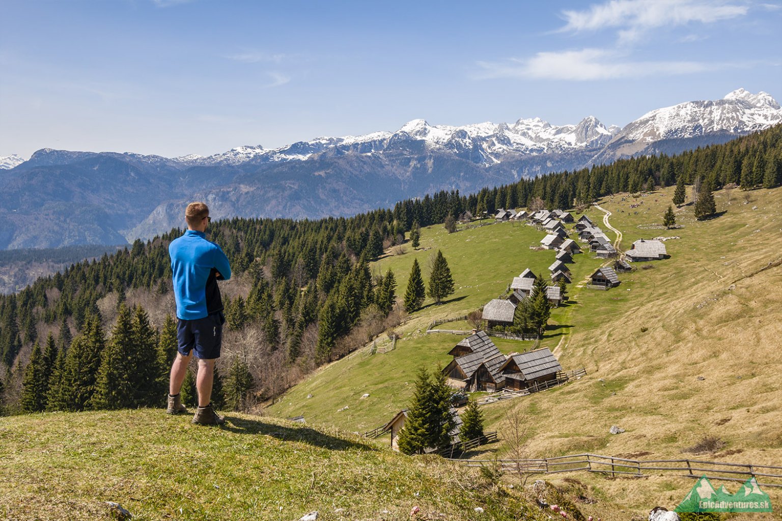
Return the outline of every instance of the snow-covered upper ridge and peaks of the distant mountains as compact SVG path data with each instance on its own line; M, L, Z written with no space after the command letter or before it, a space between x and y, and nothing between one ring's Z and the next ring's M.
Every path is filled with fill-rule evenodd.
M316 137L273 149L245 145L210 156L190 154L172 159L129 152L121 156L137 162L167 162L187 168L305 161L320 155L443 152L477 165L489 166L531 155L594 150L591 162L599 163L649 153L647 147L655 141L710 133L747 134L780 122L782 108L771 95L763 91L752 94L739 88L720 100L685 102L652 110L623 128L615 125L605 127L594 116L588 116L575 125L561 126L551 125L540 118L461 127L431 125L418 119L405 123L394 132L380 130L359 136ZM30 160L61 164L75 159L77 155L81 158L94 154L44 148L35 152ZM0 157L0 169L11 169L22 162L18 155Z

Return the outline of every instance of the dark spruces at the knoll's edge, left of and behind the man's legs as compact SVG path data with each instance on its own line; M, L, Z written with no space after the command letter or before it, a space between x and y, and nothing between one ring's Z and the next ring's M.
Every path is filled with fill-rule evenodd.
M61 330L57 340L49 334L43 348L34 344L23 376L23 412L165 405L177 352L177 324L171 316L158 331L140 306L121 305L108 338L97 316L89 316L84 332L72 340L66 331ZM252 385L246 363L235 357L225 381L215 370L213 403L240 409ZM187 405L197 405L192 372L181 392Z

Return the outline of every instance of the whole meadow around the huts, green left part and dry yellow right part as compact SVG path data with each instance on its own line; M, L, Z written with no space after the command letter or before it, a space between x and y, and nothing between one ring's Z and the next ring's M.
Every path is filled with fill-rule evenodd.
M587 376L554 391L486 405L487 430L501 433L506 412L518 408L529 419L532 457L590 451L782 466L782 189L717 191L716 218L697 221L692 205L674 207L679 227L665 230L662 215L672 196L669 187L598 202L612 212L610 222L623 234L622 250L640 238L679 237L665 241L670 259L636 263L636 271L619 275L619 287L594 291L579 287L579 281L603 261L576 255L571 302L554 310L541 345L555 349L566 370L585 367ZM591 208L587 215L605 230L603 212ZM429 255L439 248L454 274L456 293L443 305L411 314L397 328L402 339L396 350L358 351L325 366L268 412L357 432L382 425L407 407L418 367L446 364L447 351L461 339L425 334L432 319L479 309L522 269L547 274L554 260L553 251L530 249L543 232L515 223L456 234L442 226L422 232L418 251L406 244L407 253L379 259L373 269L393 269L397 294L404 294L413 257L426 279ZM533 343L497 345L508 353ZM364 393L369 397L361 398ZM608 434L612 425L626 432ZM707 436L718 437L723 448L683 454ZM387 438L380 443L387 444ZM501 442L497 450L504 451ZM569 479L601 495L602 512L621 503L636 514L648 512L652 503L673 508L692 486L672 476L607 480L581 473ZM782 494L769 493L777 504L782 501ZM615 515L624 516L621 512Z

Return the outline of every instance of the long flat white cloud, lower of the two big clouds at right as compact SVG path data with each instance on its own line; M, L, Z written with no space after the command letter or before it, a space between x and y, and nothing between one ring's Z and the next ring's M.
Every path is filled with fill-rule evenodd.
M594 81L702 73L725 64L687 61L633 61L622 52L586 48L577 51L539 52L529 59L479 62L482 78L518 77L534 80Z

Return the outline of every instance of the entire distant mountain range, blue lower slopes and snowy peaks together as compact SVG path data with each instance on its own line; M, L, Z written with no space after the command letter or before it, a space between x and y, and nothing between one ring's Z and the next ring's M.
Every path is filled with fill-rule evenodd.
M475 191L634 155L673 154L782 122L765 92L657 109L626 127L590 116L464 127L413 120L396 132L318 137L271 150L164 158L43 148L0 157L0 248L118 244L182 225L186 202L213 216L347 216L427 192Z

